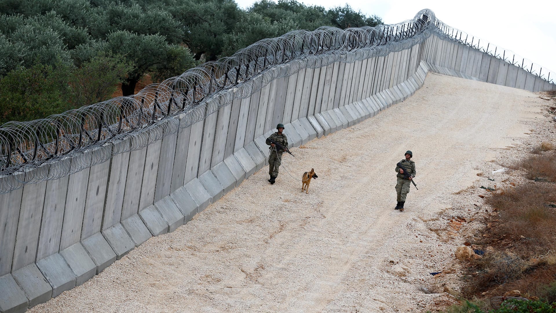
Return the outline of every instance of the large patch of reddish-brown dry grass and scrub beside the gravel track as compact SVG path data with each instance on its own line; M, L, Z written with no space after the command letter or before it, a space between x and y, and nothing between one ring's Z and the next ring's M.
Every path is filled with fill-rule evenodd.
M525 169L532 180L485 198L498 216L485 220L480 244L495 251L473 261L462 289L466 297L520 290L529 297L556 299L556 256L547 253L556 248L556 186L550 183L556 182L556 153L530 155L515 168Z

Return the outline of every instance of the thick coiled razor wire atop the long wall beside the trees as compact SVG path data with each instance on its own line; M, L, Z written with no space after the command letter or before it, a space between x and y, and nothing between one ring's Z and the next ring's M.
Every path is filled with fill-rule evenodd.
M147 85L128 97L45 119L8 122L0 127L0 194L146 147L300 69L408 49L435 32L437 22L432 11L423 9L397 24L291 31Z

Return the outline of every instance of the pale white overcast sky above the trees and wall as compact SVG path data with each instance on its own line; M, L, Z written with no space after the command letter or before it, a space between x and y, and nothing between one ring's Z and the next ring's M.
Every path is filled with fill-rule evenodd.
M254 2L254 0L236 0L242 8L247 8ZM421 9L431 9L436 18L449 26L511 50L556 73L556 1L554 0L528 0L519 4L492 0L391 2L303 0L300 2L325 8L349 3L351 7L367 15L379 16L386 24L412 19Z

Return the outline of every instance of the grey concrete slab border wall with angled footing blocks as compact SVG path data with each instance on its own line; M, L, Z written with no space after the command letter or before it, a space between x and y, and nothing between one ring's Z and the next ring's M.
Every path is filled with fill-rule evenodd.
M384 56L302 68L145 148L1 194L0 312L23 312L81 285L151 236L187 223L266 165L265 138L277 123L285 124L290 146L299 147L405 100L429 70L556 90L437 36ZM160 125L146 136L160 138L157 132L166 131ZM126 150L138 140L148 138L129 138L95 153ZM64 161L92 164L95 153Z

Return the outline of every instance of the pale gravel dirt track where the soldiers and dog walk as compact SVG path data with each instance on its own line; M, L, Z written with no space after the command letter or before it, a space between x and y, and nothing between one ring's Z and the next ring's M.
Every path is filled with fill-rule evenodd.
M265 166L190 223L30 312L441 309L459 290L460 225L480 210L461 190L527 140L543 102L429 73L404 102L292 149L276 184ZM399 212L394 169L408 149L419 190ZM319 178L305 194L311 168Z

